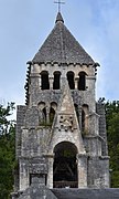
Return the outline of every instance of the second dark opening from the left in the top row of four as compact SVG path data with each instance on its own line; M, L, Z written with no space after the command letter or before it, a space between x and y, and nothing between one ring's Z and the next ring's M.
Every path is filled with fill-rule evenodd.
M61 72L54 72L53 90L60 90Z

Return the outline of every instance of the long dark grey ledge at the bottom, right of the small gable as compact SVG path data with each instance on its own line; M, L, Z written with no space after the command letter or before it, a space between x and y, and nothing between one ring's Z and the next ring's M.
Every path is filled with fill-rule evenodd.
M57 199L119 199L119 189L52 189Z

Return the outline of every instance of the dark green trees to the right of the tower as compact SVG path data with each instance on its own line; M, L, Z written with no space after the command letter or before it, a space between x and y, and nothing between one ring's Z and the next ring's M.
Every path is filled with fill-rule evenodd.
M106 103L111 187L119 187L119 101Z

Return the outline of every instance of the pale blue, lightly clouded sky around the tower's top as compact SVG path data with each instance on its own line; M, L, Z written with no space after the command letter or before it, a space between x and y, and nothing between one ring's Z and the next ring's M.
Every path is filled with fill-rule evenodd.
M119 100L119 0L64 0L65 25L98 67L96 98ZM25 103L26 62L55 24L54 0L0 0L0 104Z

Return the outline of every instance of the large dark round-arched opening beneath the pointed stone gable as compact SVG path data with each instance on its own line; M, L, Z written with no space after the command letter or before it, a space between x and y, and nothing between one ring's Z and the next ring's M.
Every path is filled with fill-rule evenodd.
M77 188L77 148L69 142L62 142L54 148L53 187L54 188Z

